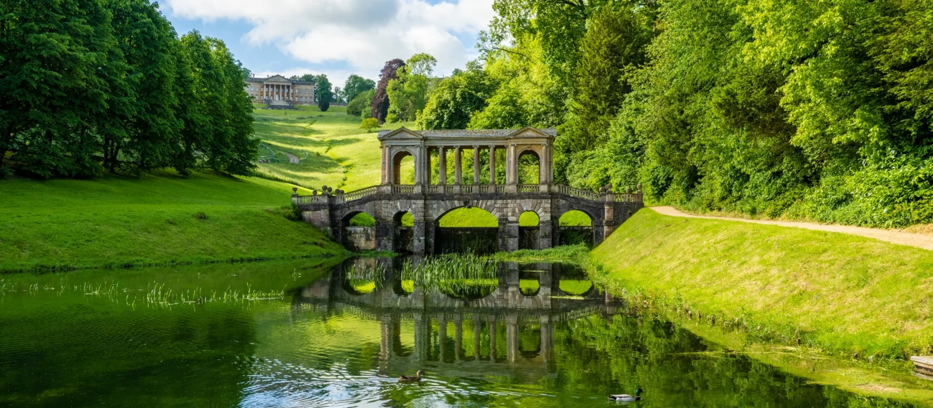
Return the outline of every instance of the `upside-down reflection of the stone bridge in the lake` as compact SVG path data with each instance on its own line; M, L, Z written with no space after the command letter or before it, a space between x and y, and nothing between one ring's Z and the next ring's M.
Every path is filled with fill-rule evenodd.
M555 325L617 312L616 303L573 266L500 263L489 290L458 291L412 286L392 264L358 259L342 265L296 292L295 312L313 308L325 316L379 321L380 369L386 372L430 367L457 377L530 379L553 372ZM402 336L408 321L411 347Z

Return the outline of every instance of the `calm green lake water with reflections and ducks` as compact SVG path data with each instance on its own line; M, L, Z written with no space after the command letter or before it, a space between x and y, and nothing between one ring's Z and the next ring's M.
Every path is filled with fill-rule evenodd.
M639 319L572 265L425 283L403 263L0 276L0 406L909 406Z

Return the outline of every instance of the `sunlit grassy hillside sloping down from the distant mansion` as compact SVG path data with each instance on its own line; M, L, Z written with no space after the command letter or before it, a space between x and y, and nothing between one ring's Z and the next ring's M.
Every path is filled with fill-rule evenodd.
M302 159L299 164L262 163L259 171L264 177L309 188L327 185L346 191L379 184L377 132L359 129L360 117L347 115L346 107L333 106L320 112L317 106L300 106L299 111L256 106L255 128L262 142L273 151ZM414 129L414 122L385 124L382 129L402 126Z

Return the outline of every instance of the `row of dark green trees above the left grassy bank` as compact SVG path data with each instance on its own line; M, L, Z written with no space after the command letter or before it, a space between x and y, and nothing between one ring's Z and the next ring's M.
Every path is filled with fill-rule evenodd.
M146 0L0 2L0 178L207 168L257 155L248 72Z

